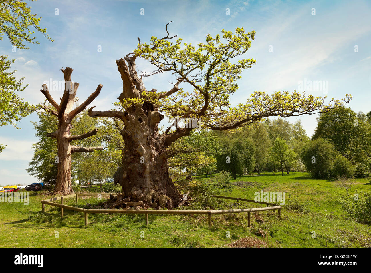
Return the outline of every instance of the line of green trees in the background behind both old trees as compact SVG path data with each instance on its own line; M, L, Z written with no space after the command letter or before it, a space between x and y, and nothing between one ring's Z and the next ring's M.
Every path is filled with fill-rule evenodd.
M46 133L56 130L56 117L38 113L33 123L40 141L33 144L34 156L27 169L39 181L55 184L57 154L55 140ZM249 127L230 131L200 129L175 141L168 149L170 174L181 185L192 175L230 172L234 179L246 173L311 172L315 178L365 177L371 168L371 119L341 107L317 118L318 126L309 138L301 120L266 119ZM76 116L73 134L94 128L98 133L75 140L75 146L103 146L103 151L74 153L72 176L82 183L112 178L121 164L124 143L122 124L113 118L89 118L87 111Z

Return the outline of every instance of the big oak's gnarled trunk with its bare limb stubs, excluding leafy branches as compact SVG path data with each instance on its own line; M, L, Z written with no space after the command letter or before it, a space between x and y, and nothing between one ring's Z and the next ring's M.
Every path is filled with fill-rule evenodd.
M118 98L122 104L128 99L140 99L142 93L147 92L135 71L135 56L125 57L125 60L116 61L123 81L123 91ZM173 89L169 92L178 90L177 85ZM93 111L92 108L89 109L91 117L118 117L124 122L121 130L125 142L122 167L114 175L115 183L122 186L122 194L134 201L148 202L152 208L178 207L181 200L168 175L166 148L189 133L191 128L177 128L175 133L159 134L158 123L164 116L148 101L126 105L125 111Z

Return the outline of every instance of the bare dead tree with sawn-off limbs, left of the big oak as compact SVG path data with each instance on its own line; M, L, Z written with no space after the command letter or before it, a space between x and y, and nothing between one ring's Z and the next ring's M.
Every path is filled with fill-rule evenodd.
M95 128L87 133L71 136L70 131L73 118L83 111L86 106L88 106L89 103L98 96L99 92L101 92L102 85L99 84L86 101L73 109L73 104L77 101L76 91L79 84L78 82L71 81L72 68L66 67L66 69L61 70L65 78L65 91L63 92L63 97L60 98L60 104L56 103L52 98L46 84L43 84L43 88L40 91L56 110L53 110L48 105L42 105L42 108L50 114L58 117L58 129L55 132L47 134L47 136L57 140L58 157L56 157L56 163L58 163L58 174L55 192L57 194L67 194L73 192L71 185L71 154L76 152L87 153L93 152L94 150L103 150L103 147L85 148L70 145L72 140L85 139L86 137L93 136L97 133L97 129Z

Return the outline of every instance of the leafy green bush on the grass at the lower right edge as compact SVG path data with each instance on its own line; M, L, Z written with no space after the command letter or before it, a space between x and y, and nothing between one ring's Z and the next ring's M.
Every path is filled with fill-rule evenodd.
M370 192L364 192L359 195L355 194L355 196L340 196L339 202L347 217L362 224L371 224Z

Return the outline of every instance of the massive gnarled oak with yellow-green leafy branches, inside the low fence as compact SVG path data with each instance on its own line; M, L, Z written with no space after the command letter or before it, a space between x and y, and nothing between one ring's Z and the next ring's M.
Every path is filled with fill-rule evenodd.
M325 97L306 96L296 91L272 95L256 91L246 104L230 107L229 95L238 89L236 80L243 69L251 68L256 62L239 58L250 48L255 31L222 30L221 36L207 35L206 43L194 46L182 43L176 35L170 37L167 25L166 37L152 37L149 43L140 43L138 38L134 52L116 60L123 82L116 104L119 110L89 109L91 117L115 117L123 121L122 168L114 179L122 185L125 196L148 202L151 207L172 208L180 204L179 193L168 175L167 148L200 124L212 130L229 130L269 116L328 111L346 104L351 98L347 95L343 101L331 100L325 106ZM176 40L171 42L174 38ZM138 75L135 64L138 57L150 62L154 71L139 71L141 75ZM164 72L174 77L170 90L147 90L143 77L156 77ZM158 124L164 116L174 122L160 133ZM182 118L190 122L184 126L178 122Z

